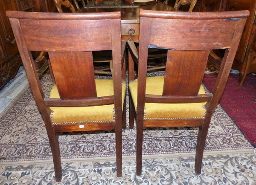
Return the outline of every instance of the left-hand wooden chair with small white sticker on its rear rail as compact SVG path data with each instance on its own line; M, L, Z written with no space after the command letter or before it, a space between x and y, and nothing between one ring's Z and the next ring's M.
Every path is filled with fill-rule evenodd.
M61 181L57 134L87 130L115 130L117 176L122 176L126 85L125 75L122 75L125 73L125 56L121 53L125 43L121 44L120 12L59 14L8 11L6 14L45 122L56 181ZM92 26L93 32L90 32ZM96 50L113 51L112 79L94 78L92 51ZM49 54L54 84L49 98L44 95L31 51Z

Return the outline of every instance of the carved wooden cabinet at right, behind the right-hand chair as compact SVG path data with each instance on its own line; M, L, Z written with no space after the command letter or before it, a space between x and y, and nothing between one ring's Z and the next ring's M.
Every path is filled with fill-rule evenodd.
M239 69L240 83L247 74L256 72L256 0L203 0L202 11L249 10L233 69Z

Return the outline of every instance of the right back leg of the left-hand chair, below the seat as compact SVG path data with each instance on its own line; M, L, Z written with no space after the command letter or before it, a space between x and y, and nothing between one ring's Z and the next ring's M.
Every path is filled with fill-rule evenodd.
M122 177L122 117L116 115L116 176Z

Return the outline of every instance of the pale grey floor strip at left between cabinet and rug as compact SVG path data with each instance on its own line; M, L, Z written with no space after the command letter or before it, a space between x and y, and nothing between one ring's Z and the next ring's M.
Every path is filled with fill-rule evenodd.
M12 100L26 87L28 80L23 66L8 84L0 90L0 113L12 102Z

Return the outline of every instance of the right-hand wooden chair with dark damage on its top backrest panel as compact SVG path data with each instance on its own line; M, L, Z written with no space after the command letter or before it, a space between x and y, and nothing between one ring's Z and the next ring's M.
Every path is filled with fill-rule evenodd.
M248 11L140 10L138 79L129 48L130 128L137 123L137 175L142 173L144 127L199 127L195 173L201 173L212 113L223 93ZM186 34L184 34L186 33ZM168 50L165 76L146 77L148 48ZM212 93L201 85L209 50L226 49ZM136 55L136 54L135 54Z

